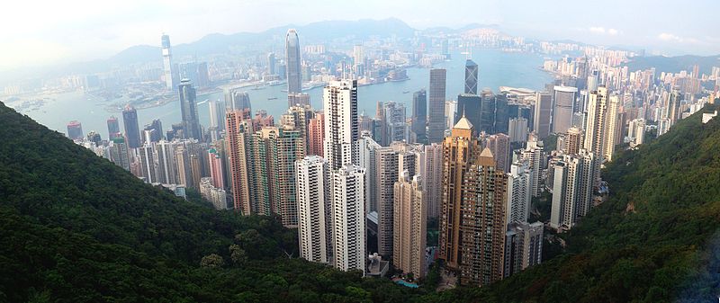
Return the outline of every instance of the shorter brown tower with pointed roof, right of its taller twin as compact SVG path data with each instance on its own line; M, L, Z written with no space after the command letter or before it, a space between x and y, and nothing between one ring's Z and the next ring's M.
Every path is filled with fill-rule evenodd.
M461 185L460 283L483 286L503 278L508 179L488 148L473 162Z

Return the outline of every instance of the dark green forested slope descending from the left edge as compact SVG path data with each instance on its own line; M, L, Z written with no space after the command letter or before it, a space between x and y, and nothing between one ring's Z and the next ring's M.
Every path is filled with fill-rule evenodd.
M297 232L275 218L176 198L0 103L0 302L393 301L410 291L297 256Z

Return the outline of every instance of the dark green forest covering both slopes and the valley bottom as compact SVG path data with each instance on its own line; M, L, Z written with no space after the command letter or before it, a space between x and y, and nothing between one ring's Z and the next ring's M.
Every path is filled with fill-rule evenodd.
M0 302L715 300L720 120L699 120L618 155L562 254L435 293L437 267L413 290L303 261L275 218L178 199L0 104Z

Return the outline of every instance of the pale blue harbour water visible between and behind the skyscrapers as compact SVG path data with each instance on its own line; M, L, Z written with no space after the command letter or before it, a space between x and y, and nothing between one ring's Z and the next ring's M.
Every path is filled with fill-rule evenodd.
M465 57L460 53L454 53L452 56L451 60L435 66L447 69L446 99L448 100L456 99L457 94L463 93L464 90ZM473 60L480 67L479 89L487 87L496 93L500 86L542 89L545 84L553 81L553 76L539 68L543 64L543 58L536 54L503 52L498 49L474 49ZM404 103L408 109L407 113L410 115L412 93L419 89L428 89L429 71L428 68L412 67L407 72L410 79L406 81L360 86L357 92L359 111L372 116L375 112L376 102L395 101ZM247 93L250 96L253 111L266 110L268 114L275 116L275 120L278 120L279 116L287 110L287 94L282 92L283 89L285 89L284 85L266 86L257 90L248 89ZM313 108L322 108L322 87L312 88L305 93L311 94ZM43 97L49 98L44 105L37 110L23 113L49 129L65 133L67 132L67 122L78 120L82 123L85 133L95 130L103 138L107 138L106 120L114 115L122 123L120 112L105 111L108 102L89 94L73 92L43 95ZM210 120L206 101L222 98L224 98L222 93L197 97L202 126L206 127ZM8 105L14 106L13 103ZM179 101L139 110L138 118L140 128L154 119L159 119L163 123L163 129L169 129L170 125L181 120Z

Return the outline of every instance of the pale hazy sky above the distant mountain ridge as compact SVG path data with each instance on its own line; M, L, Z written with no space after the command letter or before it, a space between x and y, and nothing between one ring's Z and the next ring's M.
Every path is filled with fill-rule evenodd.
M288 23L397 17L410 26L495 23L511 34L720 54L720 0L6 0L0 69L108 58L138 44Z

